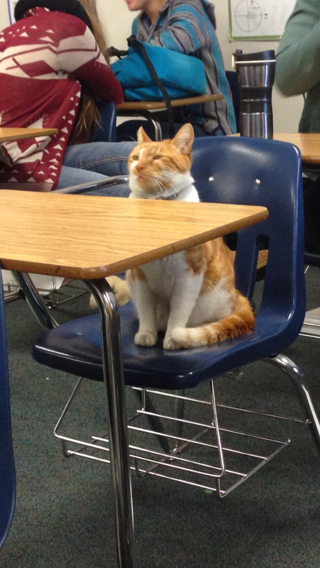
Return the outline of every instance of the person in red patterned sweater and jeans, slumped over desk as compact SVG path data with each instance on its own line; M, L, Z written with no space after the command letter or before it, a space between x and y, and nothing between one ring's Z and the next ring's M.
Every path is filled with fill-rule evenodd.
M1 144L0 188L51 191L126 173L131 143L88 143L95 101L123 100L94 0L18 0L15 19L0 33L0 125L59 132Z

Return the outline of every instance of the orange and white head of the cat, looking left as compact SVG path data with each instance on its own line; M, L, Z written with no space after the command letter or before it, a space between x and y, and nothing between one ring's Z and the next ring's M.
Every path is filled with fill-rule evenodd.
M140 127L138 146L128 158L132 197L165 199L190 185L193 139L191 124L184 124L172 140L160 142L150 140Z

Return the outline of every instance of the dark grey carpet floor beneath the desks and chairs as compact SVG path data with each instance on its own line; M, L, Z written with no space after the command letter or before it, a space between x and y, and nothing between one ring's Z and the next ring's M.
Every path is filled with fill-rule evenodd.
M306 276L307 307L320 305L320 273ZM261 289L262 283L259 283ZM59 321L89 312L88 296L56 310ZM17 499L1 568L115 568L110 472L66 460L53 427L76 379L32 361L40 333L22 300L6 306ZM320 343L299 337L286 353L320 406ZM206 395L207 385L197 396ZM265 363L217 381L218 399L301 417L289 379ZM194 394L194 392L192 393ZM103 385L87 382L70 427L105 425ZM128 389L128 406L133 404ZM319 568L320 458L305 425L259 473L219 500L210 491L132 477L139 568Z

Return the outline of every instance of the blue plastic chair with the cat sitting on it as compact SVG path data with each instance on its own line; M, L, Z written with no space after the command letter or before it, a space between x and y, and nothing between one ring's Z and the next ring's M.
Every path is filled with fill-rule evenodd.
M120 308L124 381L127 385L181 390L266 359L293 380L320 448L320 424L305 379L279 354L298 336L305 314L304 230L301 156L291 144L234 137L194 141L193 177L202 201L268 208L269 218L242 229L235 257L236 283L252 298L259 241L269 241L263 299L252 333L191 350L167 352L134 344L138 322L132 303ZM280 188L280 189L279 189ZM35 341L41 364L88 379L103 380L99 315L69 321Z

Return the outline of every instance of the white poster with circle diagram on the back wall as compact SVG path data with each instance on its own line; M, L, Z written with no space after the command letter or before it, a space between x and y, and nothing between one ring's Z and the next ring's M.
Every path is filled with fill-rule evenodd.
M296 0L228 0L230 39L279 39Z

